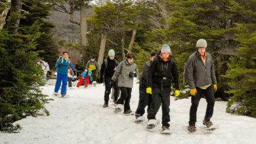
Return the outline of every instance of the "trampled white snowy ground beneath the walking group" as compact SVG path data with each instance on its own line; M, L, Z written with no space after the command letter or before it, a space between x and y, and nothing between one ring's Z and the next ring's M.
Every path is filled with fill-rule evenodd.
M198 107L198 132L188 134L190 99L174 101L171 97L171 135L161 135L161 124L153 132L145 130L146 122L135 124L134 116L114 114L114 107L103 109L104 86L68 90L69 98L53 96L54 81L43 86L43 93L54 101L46 105L49 117L27 117L16 123L22 126L17 134L0 133L0 143L256 143L256 119L225 113L226 102L216 101L211 119L218 129L200 130L206 102ZM139 84L135 84L131 109L136 111ZM110 102L111 105L111 102ZM144 115L146 117L146 115ZM157 118L161 120L161 109Z

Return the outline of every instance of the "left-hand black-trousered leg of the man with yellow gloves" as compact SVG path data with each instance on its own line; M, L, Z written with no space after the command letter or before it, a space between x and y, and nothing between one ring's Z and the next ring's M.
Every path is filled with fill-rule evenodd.
M161 105L161 90L160 88L153 88L152 89L152 103L150 110L148 111L148 119L156 119L156 113Z

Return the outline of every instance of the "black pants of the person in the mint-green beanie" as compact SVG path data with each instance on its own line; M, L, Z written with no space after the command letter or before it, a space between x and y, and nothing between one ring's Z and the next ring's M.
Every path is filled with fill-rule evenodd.
M116 80L114 82L114 85L111 86L110 85L110 81L111 81L111 78L106 78L105 79L105 94L104 94L104 101L106 104L108 104L108 100L110 99L110 92L111 92L111 88L113 87L115 92L114 92L114 101L117 101L117 98L119 96L119 87L117 85L118 83L118 80Z

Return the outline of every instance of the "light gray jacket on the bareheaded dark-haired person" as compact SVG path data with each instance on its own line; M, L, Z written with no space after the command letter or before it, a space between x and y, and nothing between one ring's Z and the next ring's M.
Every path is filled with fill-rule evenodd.
M133 71L138 75L136 63L128 63L127 60L124 60L117 65L112 80L116 81L118 79L118 86L133 88L133 78L129 77L129 73Z

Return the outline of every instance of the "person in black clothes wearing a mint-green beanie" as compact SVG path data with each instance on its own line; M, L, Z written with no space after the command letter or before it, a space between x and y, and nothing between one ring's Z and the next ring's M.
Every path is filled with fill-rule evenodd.
M117 84L118 81L116 80L112 85L110 85L110 81L115 73L117 65L118 62L115 59L115 51L113 49L108 50L108 58L104 60L100 69L100 82L102 83L104 81L105 83L103 107L108 107L112 87L114 87L114 104L116 105L116 101L119 96L119 87Z

